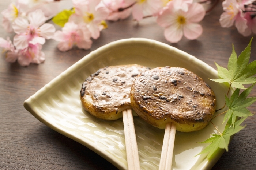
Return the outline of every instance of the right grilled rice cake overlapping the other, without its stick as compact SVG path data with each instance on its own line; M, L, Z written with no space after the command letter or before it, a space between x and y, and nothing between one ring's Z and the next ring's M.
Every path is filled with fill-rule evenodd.
M215 112L212 89L191 71L180 67L157 67L136 77L131 88L131 106L151 125L176 130L203 129Z

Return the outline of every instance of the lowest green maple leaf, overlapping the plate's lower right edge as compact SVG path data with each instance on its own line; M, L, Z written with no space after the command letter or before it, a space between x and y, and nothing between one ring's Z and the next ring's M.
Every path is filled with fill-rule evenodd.
M240 120L237 120L234 123L234 126L232 125L232 119L230 118L225 126L225 129L222 134L212 134L212 137L207 139L204 142L200 143L211 143L208 145L204 150L202 150L199 154L208 153L207 158L209 159L211 156L214 155L214 153L220 148L220 149L226 149L228 151L228 145L230 142L230 138L232 135L238 133L240 130L244 129L245 126L241 126L240 124L245 120L246 118L242 118ZM197 155L199 155L197 154Z

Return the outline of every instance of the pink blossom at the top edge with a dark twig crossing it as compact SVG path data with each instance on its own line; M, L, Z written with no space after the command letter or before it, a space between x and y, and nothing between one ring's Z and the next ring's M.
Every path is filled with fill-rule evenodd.
M102 0L99 5L109 9L109 15L106 20L110 21L126 19L132 13L132 8L125 2L125 0Z

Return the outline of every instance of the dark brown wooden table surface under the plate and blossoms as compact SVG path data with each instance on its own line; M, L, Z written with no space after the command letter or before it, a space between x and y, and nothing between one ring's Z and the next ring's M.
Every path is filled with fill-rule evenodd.
M0 11L7 8L9 1L0 2ZM232 50L232 43L237 54L248 45L252 36L243 37L235 27L221 28L219 16L221 3L207 14L201 22L204 32L197 40L182 38L171 44L163 36L163 28L152 18L137 23L129 19L108 22L109 28L93 40L90 50L73 48L67 52L57 50L57 42L47 40L42 51L46 60L42 64L28 67L18 63L5 62L4 54L0 58L0 169L11 170L52 170L52 169L116 169L108 161L95 154L87 147L57 133L39 122L24 107L23 102L36 91L66 70L76 61L91 51L115 40L130 37L154 39L174 46L196 56L216 68L214 62L226 67ZM59 27L56 27L60 29ZM0 37L11 39L14 34L7 34L0 28ZM255 37L256 38L256 37ZM256 59L256 39L252 41L251 62ZM250 96L256 96L253 88ZM256 112L256 103L249 107ZM214 170L255 169L256 168L256 116L245 121L246 128L237 133Z

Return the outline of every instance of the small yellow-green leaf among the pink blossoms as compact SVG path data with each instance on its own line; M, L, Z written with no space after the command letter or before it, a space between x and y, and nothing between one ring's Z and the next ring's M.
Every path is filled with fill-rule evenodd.
M65 23L68 22L69 16L72 15L73 13L75 13L74 10L63 10L60 13L58 13L56 16L53 17L52 21L61 26L64 27Z

